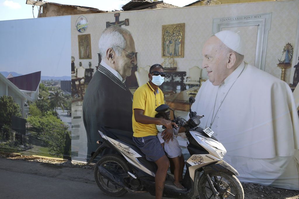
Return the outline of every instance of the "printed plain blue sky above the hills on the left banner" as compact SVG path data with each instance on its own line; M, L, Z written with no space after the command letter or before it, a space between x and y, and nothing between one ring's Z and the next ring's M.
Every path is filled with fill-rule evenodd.
M0 21L0 71L71 76L71 16Z

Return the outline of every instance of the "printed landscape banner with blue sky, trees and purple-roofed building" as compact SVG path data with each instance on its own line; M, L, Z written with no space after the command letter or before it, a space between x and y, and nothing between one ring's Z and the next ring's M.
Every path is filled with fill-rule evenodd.
M0 21L10 27L0 39L1 152L71 159L69 23L70 17Z

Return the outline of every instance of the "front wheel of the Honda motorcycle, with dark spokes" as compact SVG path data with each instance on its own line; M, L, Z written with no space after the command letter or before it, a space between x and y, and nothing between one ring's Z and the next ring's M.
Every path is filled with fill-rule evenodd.
M222 172L213 172L209 173L209 175L214 187L217 192L219 192L219 198L244 199L243 187L235 175ZM200 198L215 198L204 174L202 174L199 178L198 188Z

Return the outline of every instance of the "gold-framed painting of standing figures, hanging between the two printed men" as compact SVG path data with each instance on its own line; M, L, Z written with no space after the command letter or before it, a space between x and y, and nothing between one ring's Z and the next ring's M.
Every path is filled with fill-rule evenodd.
M183 58L184 36L184 23L162 25L162 58Z

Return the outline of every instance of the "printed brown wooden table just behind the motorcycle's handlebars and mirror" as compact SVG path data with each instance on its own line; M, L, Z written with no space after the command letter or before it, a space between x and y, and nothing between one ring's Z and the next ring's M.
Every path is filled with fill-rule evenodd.
M199 87L192 87L190 89L184 90L182 92L167 96L164 98L165 104L170 106L172 109L180 110L180 111L189 111L190 109L190 103L189 98L191 95L188 95L190 91L198 90ZM195 93L197 93L195 91ZM193 95L194 97L194 95Z

